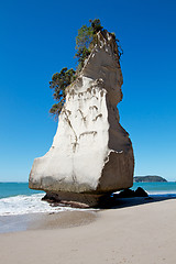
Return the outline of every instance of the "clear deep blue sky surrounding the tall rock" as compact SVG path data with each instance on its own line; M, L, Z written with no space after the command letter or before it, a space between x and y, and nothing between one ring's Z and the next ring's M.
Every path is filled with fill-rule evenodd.
M0 2L0 182L28 182L51 147L48 81L76 67L77 30L96 18L124 51L119 110L135 175L176 180L176 1L9 0Z

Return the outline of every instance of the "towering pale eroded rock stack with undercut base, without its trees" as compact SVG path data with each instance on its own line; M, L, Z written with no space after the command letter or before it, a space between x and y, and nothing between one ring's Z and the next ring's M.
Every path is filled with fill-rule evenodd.
M34 160L30 188L92 206L100 196L133 185L134 157L119 123L122 73L107 32L67 89L51 150Z

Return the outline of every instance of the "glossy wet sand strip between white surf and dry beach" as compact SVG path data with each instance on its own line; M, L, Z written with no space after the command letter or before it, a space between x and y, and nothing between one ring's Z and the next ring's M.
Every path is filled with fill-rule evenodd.
M98 217L97 210L59 211L0 217L0 233L41 229L63 229L88 224Z

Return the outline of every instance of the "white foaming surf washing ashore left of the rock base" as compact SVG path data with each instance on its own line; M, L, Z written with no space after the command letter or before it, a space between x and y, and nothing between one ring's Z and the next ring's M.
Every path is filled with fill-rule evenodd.
M69 207L51 207L47 201L41 200L43 194L2 198L0 199L0 216L75 210Z

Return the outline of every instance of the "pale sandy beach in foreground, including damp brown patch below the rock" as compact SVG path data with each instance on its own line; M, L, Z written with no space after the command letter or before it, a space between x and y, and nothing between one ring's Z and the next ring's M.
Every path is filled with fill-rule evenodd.
M0 234L1 264L174 264L176 200L48 215Z

